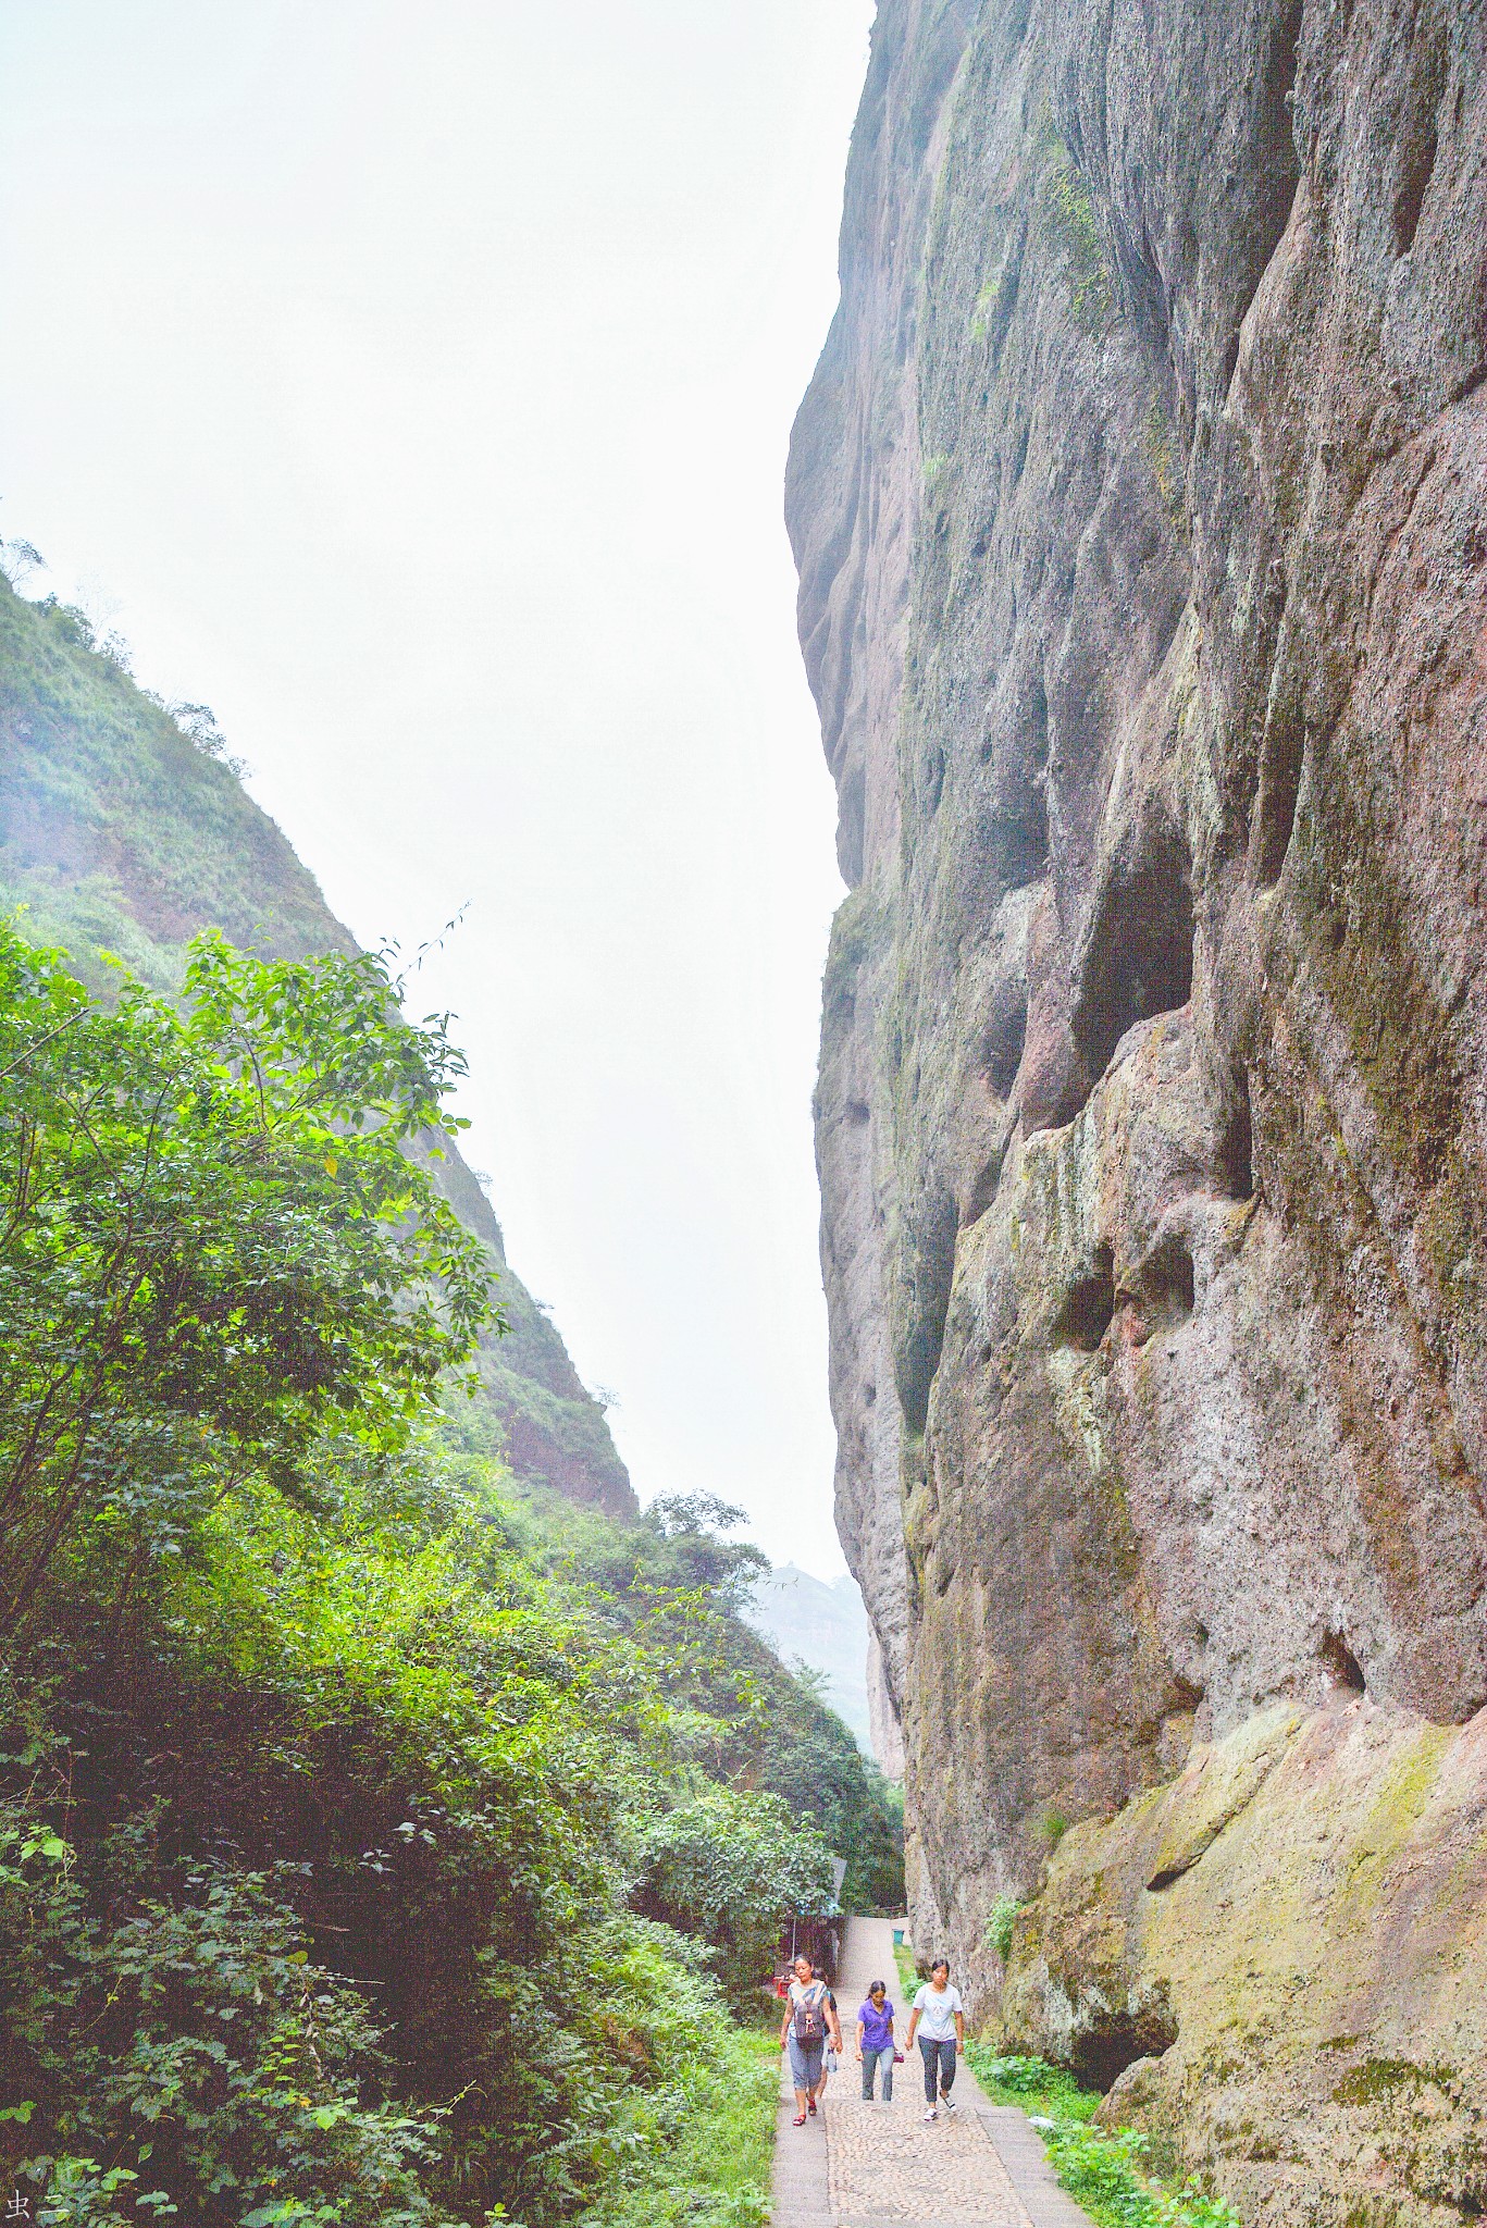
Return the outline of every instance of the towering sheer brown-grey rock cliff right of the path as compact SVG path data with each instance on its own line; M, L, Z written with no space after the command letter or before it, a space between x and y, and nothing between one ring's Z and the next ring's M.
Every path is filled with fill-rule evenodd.
M789 461L916 1938L1277 2221L1487 2203L1485 62L883 0Z

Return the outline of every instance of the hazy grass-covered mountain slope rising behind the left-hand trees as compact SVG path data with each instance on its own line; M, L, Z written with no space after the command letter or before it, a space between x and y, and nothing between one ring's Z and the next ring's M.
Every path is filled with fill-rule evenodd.
M0 907L105 985L109 951L158 989L196 929L276 958L348 951L314 876L230 764L203 706L185 726L103 655L80 613L0 577ZM560 1332L506 1263L499 1223L453 1154L435 1179L488 1245L511 1335L482 1352L484 1415L517 1477L633 1515L635 1495Z

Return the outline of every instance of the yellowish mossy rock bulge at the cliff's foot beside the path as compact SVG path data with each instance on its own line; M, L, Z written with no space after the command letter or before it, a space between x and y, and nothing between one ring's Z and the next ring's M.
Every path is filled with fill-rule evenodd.
M1090 2081L1246 2221L1431 2221L1487 2188L1487 1718L1273 1709L1017 1921L1008 2036ZM1139 2052L1139 2056L1133 2056Z

